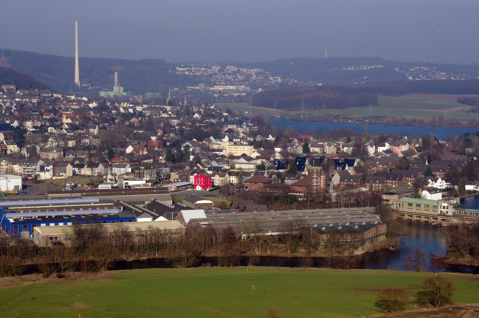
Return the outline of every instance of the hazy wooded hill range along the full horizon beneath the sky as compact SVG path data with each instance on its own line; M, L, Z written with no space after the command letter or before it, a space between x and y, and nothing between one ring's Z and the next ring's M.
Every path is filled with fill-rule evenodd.
M18 50L2 50L1 67L10 67L45 83L55 91L76 91L73 83L74 58ZM197 65L200 64L196 62ZM206 63L206 62L205 62ZM119 73L125 91L133 93L159 92L165 95L169 87L184 91L186 86L215 82L207 76L177 74L176 67L191 66L192 62L172 64L163 59L116 59L80 57L80 78L90 80L91 86L110 88L115 71ZM294 85L277 84L264 90L354 83L408 81L411 79L477 79L478 65L434 64L427 62L398 62L380 57L284 58L268 62L218 62L222 68L261 68L271 76L293 79ZM411 82L420 81L412 80ZM291 83L291 81L290 81ZM411 84L416 85L416 84ZM421 86L421 85L420 85ZM256 87L254 87L256 88ZM94 91L91 91L94 93Z

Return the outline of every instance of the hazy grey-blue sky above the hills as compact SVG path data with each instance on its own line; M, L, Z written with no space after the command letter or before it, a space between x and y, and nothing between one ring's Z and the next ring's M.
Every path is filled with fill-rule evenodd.
M479 61L471 1L3 1L0 47L80 57Z

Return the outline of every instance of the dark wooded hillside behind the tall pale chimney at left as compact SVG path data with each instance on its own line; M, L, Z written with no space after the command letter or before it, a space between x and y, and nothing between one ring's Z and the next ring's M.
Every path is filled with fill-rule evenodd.
M74 57L60 57L34 52L3 50L5 57L0 58L0 66L11 68L33 76L46 83L56 91L66 92L78 90L73 83L75 76ZM135 93L158 92L160 84L163 95L168 87L185 87L208 83L194 75L177 75L176 65L166 63L162 59L119 60L116 58L80 57L80 78L87 78L91 86L111 88L114 83L114 72L119 74L119 81L125 91Z

